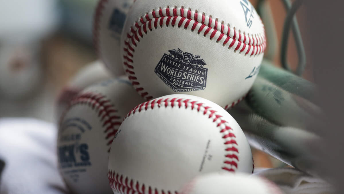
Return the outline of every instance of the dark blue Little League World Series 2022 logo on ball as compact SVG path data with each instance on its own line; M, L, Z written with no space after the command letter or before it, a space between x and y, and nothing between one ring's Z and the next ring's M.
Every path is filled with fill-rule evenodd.
M173 49L162 56L154 72L175 92L197 91L206 87L205 65L201 56Z

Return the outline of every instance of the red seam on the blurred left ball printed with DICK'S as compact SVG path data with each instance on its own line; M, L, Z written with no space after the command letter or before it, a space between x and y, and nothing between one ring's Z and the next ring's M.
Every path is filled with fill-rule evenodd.
M73 98L68 108L65 110L61 121L66 116L68 110L78 104L87 105L97 111L98 118L100 118L100 122L103 124L102 127L105 128L103 133L106 134L105 139L108 140L106 145L109 147L108 152L110 152L111 143L118 130L115 126L120 126L122 123L121 117L115 114L118 110L115 109L114 105L111 104L110 100L107 99L106 96L87 92L79 94Z

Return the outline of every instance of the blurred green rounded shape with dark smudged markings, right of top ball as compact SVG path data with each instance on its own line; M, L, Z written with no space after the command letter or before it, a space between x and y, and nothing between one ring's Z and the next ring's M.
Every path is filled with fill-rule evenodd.
M255 113L281 126L309 128L321 114L310 101L262 77L257 77L246 101Z

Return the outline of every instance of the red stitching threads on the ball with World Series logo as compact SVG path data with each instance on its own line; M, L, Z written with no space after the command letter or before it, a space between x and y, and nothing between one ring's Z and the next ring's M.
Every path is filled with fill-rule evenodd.
M201 21L197 21L198 20L198 13L195 11L194 19L192 19L191 10L187 10L186 16L184 16L184 8L183 7L180 8L180 14L178 14L177 8L173 8L172 9L172 15L173 16L171 16L169 7L164 8L164 9L159 9L157 12L155 10L153 10L151 12L151 14L152 14L152 16L150 16L150 13L148 13L145 16L140 17L140 19L135 23L135 25L130 27L130 33L132 35L130 35L130 33L127 33L127 40L125 40L125 47L128 47L132 52L128 52L128 50L129 50L128 48L123 48L125 53L126 53L123 56L123 58L124 58L124 67L126 69L126 72L131 75L130 80L137 80L137 77L133 76L133 75L135 75L135 71L133 70L134 67L132 65L129 65L129 63L133 63L132 58L133 58L133 53L135 52L135 50L130 46L129 42L131 42L132 45L134 45L136 47L137 46L136 41L140 42L139 37L143 38L143 33L141 32L141 28L143 29L144 33L147 34L147 23L148 23L148 29L150 31L152 31L152 20L154 20L153 27L155 29L158 28L158 22L159 22L160 27L162 27L164 25L163 21L164 21L164 18L166 18L166 17L167 17L166 22L165 22L166 27L169 27L170 22L171 22L171 26L174 27L176 20L178 18L181 18L178 22L178 27L180 28L183 25L184 20L186 19L187 21L184 24L184 28L187 29L189 27L191 21L194 20L194 24L191 27L192 32L196 29L198 23L201 23L202 25L200 26L200 28L197 31L198 34L200 34L203 31L203 29L205 27L207 27L205 29L203 35L206 36L213 29L213 31L209 37L210 39L213 39L216 36L216 33L219 31L221 34L217 38L216 42L221 41L223 39L223 37L226 35L227 37L223 42L223 46L225 46L229 42L230 38L232 38L233 40L230 43L228 48L233 47L235 45L236 41L238 41L238 45L236 46L234 51L239 50L241 45L243 45L243 48L241 48L239 50L239 52L240 53L244 52L246 47L248 46L247 47L248 49L245 52L245 55L248 55L250 50L252 50L250 56L256 56L256 55L264 52L266 49L266 38L265 38L265 29L264 28L263 28L264 35L259 35L258 36L259 41L258 41L257 35L249 35L249 34L246 35L245 32L243 35L241 35L241 33L238 33L239 35L237 38L237 32L236 32L235 28L234 28L233 37L230 37L229 36L230 35L229 25L227 25L227 33L225 33L224 32L224 29L225 29L224 22L222 22L221 26L220 26L220 25L218 25L218 20L215 19L215 21L213 22L213 19L211 16L209 16L208 21L205 22L206 20L205 20L204 14L202 14ZM157 14L158 14L158 16L157 16ZM171 21L171 19L172 19L172 21ZM160 21L158 21L158 20L160 20ZM139 36L137 35L137 33L139 34ZM244 40L242 40L241 37L243 37ZM252 38L252 41L251 41L251 38ZM256 41L255 41L255 38L256 38ZM247 41L248 41L248 43L247 43ZM142 97L146 98L147 100L151 100L153 98L153 96L150 96L148 92L143 91L144 88L139 87L139 85L140 85L139 81L131 81L131 83L132 83L132 85L137 86L137 88L139 88L139 90L137 90L137 91L142 91L141 92ZM236 103L233 103L230 107L233 107L235 104ZM225 109L230 108L230 107L229 107L229 105L226 105Z

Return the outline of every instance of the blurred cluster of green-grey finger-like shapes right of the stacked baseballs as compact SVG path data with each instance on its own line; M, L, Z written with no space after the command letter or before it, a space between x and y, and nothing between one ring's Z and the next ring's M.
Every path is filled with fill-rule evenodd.
M314 96L314 84L265 60L245 100L228 112L252 147L314 175L312 150L322 140L312 128L324 118Z

